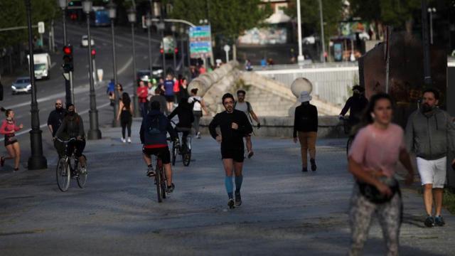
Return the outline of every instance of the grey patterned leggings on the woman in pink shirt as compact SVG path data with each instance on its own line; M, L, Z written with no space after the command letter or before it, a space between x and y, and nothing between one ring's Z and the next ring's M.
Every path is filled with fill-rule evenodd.
M353 196L350 200L351 242L349 255L362 255L363 244L368 238L373 214L378 216L387 247L387 255L398 255L398 238L402 219L400 193L395 193L392 200L387 203L375 204L360 194L357 184L354 185Z

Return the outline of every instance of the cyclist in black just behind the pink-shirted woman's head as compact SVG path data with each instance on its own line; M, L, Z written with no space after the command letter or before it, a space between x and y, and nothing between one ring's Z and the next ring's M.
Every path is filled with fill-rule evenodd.
M341 110L341 113L338 116L339 119L343 119L344 115L349 110L349 127L354 127L360 122L363 110L365 110L368 105L368 100L363 92L365 92L363 87L360 85L354 85L353 96L349 97L348 101L346 101L346 105L344 105L343 110Z

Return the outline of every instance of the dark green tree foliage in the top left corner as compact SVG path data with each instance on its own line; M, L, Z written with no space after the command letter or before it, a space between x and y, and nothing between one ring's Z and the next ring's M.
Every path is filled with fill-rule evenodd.
M60 16L57 1L50 0L31 0L32 24L44 21L46 26L56 15ZM21 0L1 0L0 1L0 28L11 28L16 26L26 26L27 16L25 2ZM33 34L38 35L38 29L33 28ZM16 31L0 32L0 48L14 46L18 43L27 41L28 32L26 29Z

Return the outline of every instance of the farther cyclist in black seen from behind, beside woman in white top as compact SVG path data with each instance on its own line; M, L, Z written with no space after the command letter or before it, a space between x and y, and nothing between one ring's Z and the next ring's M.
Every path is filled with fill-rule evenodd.
M190 134L191 124L194 122L193 106L188 103L188 98L181 98L178 107L168 115L168 119L171 120L176 115L178 116L176 132L183 132L182 144L186 145L186 137Z

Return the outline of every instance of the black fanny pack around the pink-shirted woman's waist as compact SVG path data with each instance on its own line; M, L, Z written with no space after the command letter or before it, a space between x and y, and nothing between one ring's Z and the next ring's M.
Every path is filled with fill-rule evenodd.
M395 193L400 193L400 185L395 178L384 177L380 178L380 180L389 186L390 190L392 191L391 196L386 196L380 193L380 191L378 191L378 188L373 185L357 181L360 194L362 194L362 196L365 196L365 198L367 198L371 203L387 203L393 198L393 196L395 196Z

